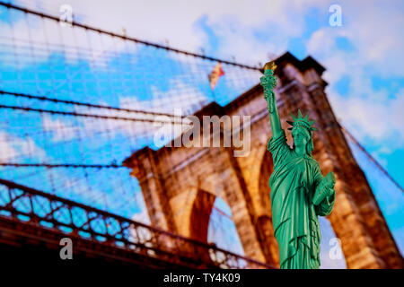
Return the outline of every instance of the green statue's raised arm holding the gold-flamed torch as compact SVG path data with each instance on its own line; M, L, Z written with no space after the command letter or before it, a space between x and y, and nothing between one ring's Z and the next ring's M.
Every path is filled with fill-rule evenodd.
M274 70L277 65L268 62L264 65L264 75L260 78L261 86L264 87L264 98L268 103L268 112L272 129L272 136L277 138L282 133L279 113L277 112L277 99L275 97L274 88L277 85L277 77L274 75Z

